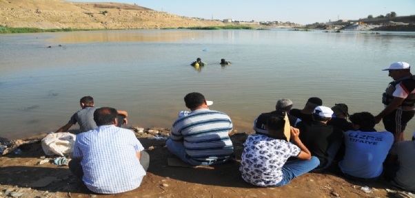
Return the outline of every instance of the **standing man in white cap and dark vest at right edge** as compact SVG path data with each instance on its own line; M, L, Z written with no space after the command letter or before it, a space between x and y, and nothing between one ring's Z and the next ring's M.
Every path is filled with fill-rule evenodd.
M403 131L415 115L415 76L412 76L410 65L405 62L393 63L382 71L388 71L394 81L383 93L385 109L375 116L375 122L383 120L385 129L394 134L395 142L404 141Z

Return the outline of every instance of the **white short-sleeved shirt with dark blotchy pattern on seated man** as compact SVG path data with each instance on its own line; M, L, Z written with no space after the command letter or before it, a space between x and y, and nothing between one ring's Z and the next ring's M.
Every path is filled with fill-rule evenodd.
M301 153L298 146L285 140L254 134L243 143L242 178L256 186L275 186L283 179L281 168L288 157Z

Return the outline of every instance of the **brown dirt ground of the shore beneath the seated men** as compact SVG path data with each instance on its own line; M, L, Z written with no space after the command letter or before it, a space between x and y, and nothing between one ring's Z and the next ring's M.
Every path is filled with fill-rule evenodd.
M168 130L154 130L167 136ZM148 131L148 130L146 130ZM175 156L165 147L166 140L150 140L154 134L136 133L145 151L150 154L150 167L141 186L116 195L97 195L76 179L68 166L50 163L38 165L45 156L41 142L21 145L23 154L14 153L0 157L0 197L403 197L387 192L396 190L387 181L361 183L334 174L334 168L323 173L306 173L279 188L262 188L247 184L239 172L243 142L247 134L231 135L236 162L219 166L185 168L168 166L168 158ZM115 145L108 145L115 146ZM114 156L117 158L117 156ZM45 177L53 178L51 184L41 188L28 188L32 182ZM369 186L373 193L361 190ZM20 194L19 194L20 192ZM11 194L14 193L14 194ZM23 193L23 194L22 194Z

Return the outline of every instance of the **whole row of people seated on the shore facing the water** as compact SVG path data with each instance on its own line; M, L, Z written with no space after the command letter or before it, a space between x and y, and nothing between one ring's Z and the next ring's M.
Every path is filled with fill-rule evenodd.
M127 122L127 113L110 107L92 111L93 100L91 104L85 97L80 101L82 109L68 123L71 125L58 130L67 131L76 122L85 126L81 130L85 133L77 135L77 158L70 161L70 170L94 192L112 194L138 188L150 157L132 131L117 127ZM200 93L187 94L184 101L190 111L181 111L174 121L166 142L168 150L192 166L234 161L230 117L210 110L212 101ZM243 143L239 168L245 181L256 186L284 186L304 173L320 173L330 166L352 179L373 181L383 175L398 188L415 190L415 133L412 141L394 143L392 133L374 129L371 113L349 115L346 104L329 108L316 97L307 100L303 109L292 107L291 100L280 99L275 111L261 113L254 121L256 133ZM97 126L82 124L81 120L91 118Z

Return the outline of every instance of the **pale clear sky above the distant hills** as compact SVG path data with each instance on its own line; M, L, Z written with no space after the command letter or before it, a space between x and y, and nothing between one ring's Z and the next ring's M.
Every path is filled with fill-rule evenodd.
M396 12L415 15L415 0L71 0L130 3L185 17L234 19L236 21L291 21L323 23L338 19L357 20Z

